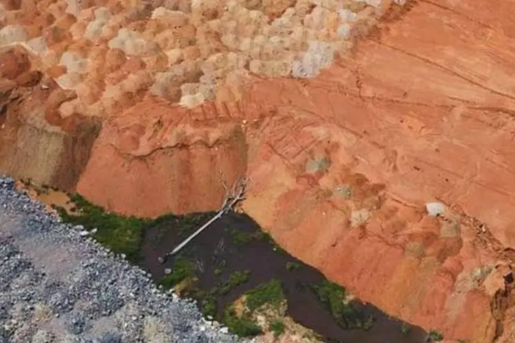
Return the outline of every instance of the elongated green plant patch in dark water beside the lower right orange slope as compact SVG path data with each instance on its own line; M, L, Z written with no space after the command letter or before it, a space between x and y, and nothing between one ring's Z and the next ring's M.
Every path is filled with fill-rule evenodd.
M321 303L328 307L334 320L345 329L369 330L374 326L374 318L364 318L363 314L345 302L345 288L328 280L311 287Z

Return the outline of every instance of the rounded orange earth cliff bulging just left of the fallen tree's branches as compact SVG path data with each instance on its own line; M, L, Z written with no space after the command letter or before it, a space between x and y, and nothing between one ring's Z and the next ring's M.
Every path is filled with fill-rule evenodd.
M244 129L230 120L185 120L187 110L170 107L149 99L106 121L78 192L140 216L218 209L224 185L247 173Z

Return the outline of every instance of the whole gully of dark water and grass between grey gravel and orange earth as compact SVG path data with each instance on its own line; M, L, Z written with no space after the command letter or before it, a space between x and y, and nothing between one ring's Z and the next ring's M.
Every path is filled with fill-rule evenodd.
M206 316L227 324L234 333L238 334L236 329L244 329L246 336L252 335L249 333L255 330L257 317L244 312L238 316L247 318L247 321L236 320L235 324L231 320L231 325L228 324L231 317L227 319L227 309L234 309L234 304L242 298L249 299L249 294L255 289L271 283L277 285L278 282L281 304L286 303L286 313L276 318L284 320L289 317L309 329L307 331L314 335L304 336L308 341L313 338L341 343L421 343L441 338L435 331L427 333L420 327L385 314L374 305L352 298L343 287L330 283L321 272L282 250L245 214L227 213L177 255L159 261L214 213L138 219L105 212L78 195L72 196L72 201L67 195L63 196L64 193L48 188L32 188L32 193L38 200L57 209L65 222L82 224L88 230L96 228L92 235L100 243L114 252L126 252L128 260L150 272L156 283L174 287L176 291L181 288L181 296L196 298ZM67 200L63 200L65 198ZM170 281L170 277L174 283L163 282ZM263 300L266 305L267 301L277 300L273 298L277 297L277 292L272 294L270 289L273 287L266 292L271 294L254 294L259 293L258 300ZM206 303L209 304L208 311L204 308ZM248 308L244 306L244 309ZM279 324L283 325L282 322ZM260 329L272 331L271 326ZM279 335L281 332L279 330Z

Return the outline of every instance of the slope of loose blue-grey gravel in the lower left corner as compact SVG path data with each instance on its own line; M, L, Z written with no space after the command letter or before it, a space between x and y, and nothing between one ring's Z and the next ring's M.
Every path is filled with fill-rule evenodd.
M0 343L243 342L0 178Z

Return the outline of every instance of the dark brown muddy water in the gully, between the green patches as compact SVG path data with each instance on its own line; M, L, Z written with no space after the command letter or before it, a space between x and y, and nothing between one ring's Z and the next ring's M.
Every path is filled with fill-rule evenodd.
M203 215L198 222L209 218ZM165 268L173 268L174 261L169 259L165 263L159 263L158 257L172 250L177 244L187 237L194 228L179 228L180 220L169 217L146 228L146 237L142 255L142 265L159 281L165 275ZM197 226L198 227L198 226ZM250 270L250 278L247 283L231 289L225 296L218 297L217 319L220 319L222 309L240 298L244 292L271 279L282 281L286 299L288 301L288 316L295 322L319 333L326 342L346 343L420 343L424 342L426 333L419 327L411 327L409 333L402 333L402 322L389 317L372 305L361 303L359 300L351 300L354 308L364 316L374 318L374 326L368 331L363 329L347 330L341 327L328 308L319 302L316 294L307 285L319 283L324 276L314 268L304 265L294 257L288 255L280 248L271 244L268 239L253 239L247 243L235 243L234 232L255 233L260 227L246 215L229 213L221 220L209 226L201 235L188 245L182 257L195 261L201 265L201 271L196 272L198 285L196 287L208 291L216 287L217 276L214 270L217 263L213 258L225 259L227 264L218 275L218 279L227 279L236 271ZM223 246L220 252L220 246ZM299 263L299 268L288 270L286 263Z

